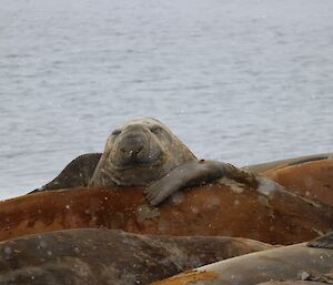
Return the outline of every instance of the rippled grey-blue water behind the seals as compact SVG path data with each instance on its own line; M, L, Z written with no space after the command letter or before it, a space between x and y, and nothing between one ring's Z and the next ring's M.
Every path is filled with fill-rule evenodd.
M0 199L153 116L199 156L333 151L332 0L1 0Z

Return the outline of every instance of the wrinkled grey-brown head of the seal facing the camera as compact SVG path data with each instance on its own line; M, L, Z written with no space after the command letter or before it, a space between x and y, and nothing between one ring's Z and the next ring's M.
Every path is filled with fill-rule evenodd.
M194 154L160 121L131 120L108 138L89 186L147 186L192 160Z

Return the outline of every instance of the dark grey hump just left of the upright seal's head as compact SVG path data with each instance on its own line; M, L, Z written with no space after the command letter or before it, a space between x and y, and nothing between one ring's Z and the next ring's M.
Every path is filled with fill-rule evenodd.
M101 156L102 153L87 153L78 156L71 161L54 180L28 194L41 191L87 186Z

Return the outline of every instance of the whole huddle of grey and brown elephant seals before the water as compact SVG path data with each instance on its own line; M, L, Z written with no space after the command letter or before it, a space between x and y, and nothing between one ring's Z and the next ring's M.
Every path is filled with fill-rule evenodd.
M131 120L103 153L1 203L0 285L332 284L333 233L295 244L333 228L332 159L234 167L198 160L158 120Z

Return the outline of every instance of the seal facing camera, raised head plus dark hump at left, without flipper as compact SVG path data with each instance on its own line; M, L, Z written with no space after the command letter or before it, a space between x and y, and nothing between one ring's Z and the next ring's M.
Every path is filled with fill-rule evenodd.
M196 160L160 121L131 120L109 135L103 153L88 153L70 162L39 191L78 186L147 186L175 167Z

